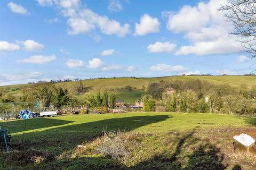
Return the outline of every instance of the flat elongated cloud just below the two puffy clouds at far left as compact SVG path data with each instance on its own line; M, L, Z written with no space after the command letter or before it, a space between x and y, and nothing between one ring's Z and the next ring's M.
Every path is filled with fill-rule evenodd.
M33 63L33 64L46 64L56 60L55 55L43 56L43 55L34 55L23 60L18 60L21 63Z

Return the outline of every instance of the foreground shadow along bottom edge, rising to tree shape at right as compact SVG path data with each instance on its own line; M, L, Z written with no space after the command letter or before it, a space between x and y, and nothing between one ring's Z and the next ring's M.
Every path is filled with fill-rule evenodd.
M127 167L118 160L113 160L107 157L76 157L65 161L61 160L57 164L51 166L46 165L42 169L50 169L53 165L56 169L211 169L222 170L226 169L227 165L222 163L224 155L221 154L220 149L210 144L207 141L193 137L195 130L188 132L181 137L178 137L176 147L174 150L164 151L155 154L153 157L144 160L134 166ZM166 137L167 138L167 137ZM195 147L194 151L187 153L188 147ZM183 160L187 160L183 161ZM40 168L39 168L40 169Z

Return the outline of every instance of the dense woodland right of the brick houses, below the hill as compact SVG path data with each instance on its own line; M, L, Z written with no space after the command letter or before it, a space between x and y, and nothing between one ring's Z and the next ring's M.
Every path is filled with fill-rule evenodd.
M173 90L167 92L167 87ZM201 80L174 80L150 83L147 89L151 96L148 100L155 101L154 108L163 106L166 112L256 113L256 87L248 88L246 84L231 87Z

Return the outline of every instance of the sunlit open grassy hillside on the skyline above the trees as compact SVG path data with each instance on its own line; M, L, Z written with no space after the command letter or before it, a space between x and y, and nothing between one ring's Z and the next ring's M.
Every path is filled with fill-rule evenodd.
M65 87L73 97L83 99L87 95L93 94L96 91L103 89L110 89L116 92L117 99L123 99L126 103L133 103L136 99L140 98L146 92L146 87L150 82L159 82L161 80L192 80L199 79L202 81L209 81L214 84L228 83L230 86L238 87L241 84L247 86L256 86L256 77L242 76L242 75L225 75L225 76L172 76L172 77L158 77L158 78L106 78L106 79L92 79L83 80L83 84L89 87L90 90L83 95L74 93L74 86L77 82L62 82L55 85ZM29 89L33 84L18 84L12 86L1 86L0 89L8 92L9 94L19 97L23 89ZM126 86L131 86L132 90L125 89Z

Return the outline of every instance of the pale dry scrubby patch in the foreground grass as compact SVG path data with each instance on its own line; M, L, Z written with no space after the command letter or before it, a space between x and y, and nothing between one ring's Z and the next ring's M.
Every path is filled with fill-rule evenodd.
M73 150L71 157L100 154L125 164L141 155L141 139L142 135L135 132L105 132L102 137L78 146Z

